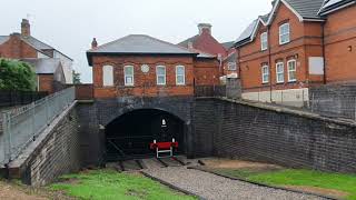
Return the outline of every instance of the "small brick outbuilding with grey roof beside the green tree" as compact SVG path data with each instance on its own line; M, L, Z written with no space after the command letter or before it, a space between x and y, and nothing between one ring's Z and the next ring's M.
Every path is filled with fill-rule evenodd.
M37 79L37 91L47 91L53 93L65 84L65 72L60 59L40 58L40 59L21 59L34 67Z

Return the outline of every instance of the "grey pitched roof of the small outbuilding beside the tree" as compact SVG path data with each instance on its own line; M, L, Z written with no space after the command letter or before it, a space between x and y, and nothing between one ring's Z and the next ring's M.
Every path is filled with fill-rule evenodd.
M21 60L33 66L37 74L53 74L61 64L60 60L55 58Z

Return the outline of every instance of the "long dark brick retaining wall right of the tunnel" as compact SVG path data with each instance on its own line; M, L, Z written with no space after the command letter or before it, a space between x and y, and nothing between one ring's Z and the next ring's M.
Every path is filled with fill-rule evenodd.
M194 121L198 157L356 172L355 123L290 109L207 98L196 100Z

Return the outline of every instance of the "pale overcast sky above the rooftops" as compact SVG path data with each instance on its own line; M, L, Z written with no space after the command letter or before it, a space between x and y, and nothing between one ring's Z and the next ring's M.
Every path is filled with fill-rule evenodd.
M91 82L86 50L131 33L178 43L212 24L220 41L235 40L271 0L2 0L0 34L20 32L29 14L31 34L75 59L83 82Z

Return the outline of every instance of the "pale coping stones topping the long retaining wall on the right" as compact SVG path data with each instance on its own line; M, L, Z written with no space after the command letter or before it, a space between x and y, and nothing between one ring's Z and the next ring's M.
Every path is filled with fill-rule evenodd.
M197 99L216 99L216 100L244 104L244 106L248 106L248 107L254 107L254 108L258 108L258 109L270 110L270 111L275 111L275 112L279 112L279 113L288 113L288 114L294 114L294 116L298 116L298 117L322 120L325 122L337 123L337 124L342 124L342 126L356 127L356 121L352 121L352 120L346 121L346 120L340 120L340 119L327 118L327 117L323 117L320 114L308 112L308 111L295 110L295 109L286 108L286 107L276 107L276 106L267 104L267 103L263 103L263 102L251 102L251 101L219 98L219 97L202 97L202 98L197 98Z

